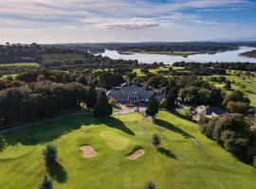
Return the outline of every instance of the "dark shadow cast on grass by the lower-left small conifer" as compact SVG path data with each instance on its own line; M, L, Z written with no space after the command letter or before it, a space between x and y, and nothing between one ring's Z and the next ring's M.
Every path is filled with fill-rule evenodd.
M58 162L47 164L46 171L53 180L60 183L64 183L67 180L67 173L63 165Z

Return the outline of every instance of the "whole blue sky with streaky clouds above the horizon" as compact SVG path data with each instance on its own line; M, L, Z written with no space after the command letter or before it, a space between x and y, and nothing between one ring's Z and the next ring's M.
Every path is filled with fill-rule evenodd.
M0 43L256 37L256 0L1 0Z

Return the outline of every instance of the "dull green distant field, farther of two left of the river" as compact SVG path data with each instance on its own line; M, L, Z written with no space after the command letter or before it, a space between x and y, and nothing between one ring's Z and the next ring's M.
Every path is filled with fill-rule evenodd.
M43 62L48 63L52 61L64 61L64 60L83 60L84 56L81 54L75 54L75 53L67 53L67 54L44 54L43 56Z

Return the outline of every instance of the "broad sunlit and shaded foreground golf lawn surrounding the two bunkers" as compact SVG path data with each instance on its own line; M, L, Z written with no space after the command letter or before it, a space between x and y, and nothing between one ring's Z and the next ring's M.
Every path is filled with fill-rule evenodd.
M161 111L156 118L161 127L138 113L103 120L67 116L2 135L0 188L37 188L46 173L42 158L46 142L59 150L59 164L48 170L55 189L141 189L146 180L154 180L159 189L256 188L256 170L202 135L196 124L169 112ZM150 144L155 132L162 139L163 153ZM83 145L93 146L97 156L84 158L79 149ZM137 146L145 154L128 160L127 154Z

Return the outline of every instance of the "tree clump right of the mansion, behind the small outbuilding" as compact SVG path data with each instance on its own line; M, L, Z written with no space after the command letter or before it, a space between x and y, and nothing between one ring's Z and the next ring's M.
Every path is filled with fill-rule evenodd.
M145 77L147 78L148 76L150 74ZM171 112L176 107L177 99L187 104L221 106L225 97L221 89L214 87L206 80L194 76L171 77L167 79L160 75L154 75L148 78L148 84L166 94L166 98L161 101L160 105ZM227 96L226 99L228 98Z

